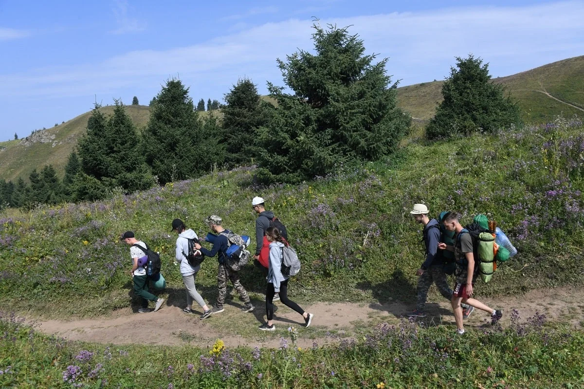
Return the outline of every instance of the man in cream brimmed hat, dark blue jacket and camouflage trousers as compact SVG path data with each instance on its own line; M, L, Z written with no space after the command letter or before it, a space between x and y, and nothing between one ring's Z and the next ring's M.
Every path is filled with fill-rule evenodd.
M432 283L436 283L440 294L449 301L452 300L452 289L448 286L447 276L444 273L442 250L438 249L440 242L440 225L438 221L428 217L429 211L425 204L413 204L413 209L410 211L410 214L413 215L416 223L424 226L422 234L426 246L426 258L422 266L416 271L416 275L420 277L418 279L416 309L408 314L408 316L423 318L426 317L424 309L426 307L428 291ZM474 308L466 304L463 304L463 308L463 318L468 318Z

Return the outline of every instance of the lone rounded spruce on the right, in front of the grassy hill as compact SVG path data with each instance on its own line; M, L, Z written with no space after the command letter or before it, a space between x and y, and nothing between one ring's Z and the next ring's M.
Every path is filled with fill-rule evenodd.
M456 60L456 68L450 68L450 77L442 85L444 100L426 127L426 136L467 136L519 124L519 107L510 96L505 97L502 85L491 82L489 64L483 65L472 54Z

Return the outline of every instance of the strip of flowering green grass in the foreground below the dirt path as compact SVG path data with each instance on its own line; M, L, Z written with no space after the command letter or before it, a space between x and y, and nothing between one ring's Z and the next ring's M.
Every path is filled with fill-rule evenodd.
M335 346L211 350L67 342L0 315L0 386L15 388L577 388L584 334L540 316L454 335L377 325ZM180 335L178 335L180 337ZM333 339L335 336L333 335ZM185 342L189 338L183 339ZM221 362L221 364L219 364ZM73 376L72 372L76 374ZM379 386L378 386L379 385Z

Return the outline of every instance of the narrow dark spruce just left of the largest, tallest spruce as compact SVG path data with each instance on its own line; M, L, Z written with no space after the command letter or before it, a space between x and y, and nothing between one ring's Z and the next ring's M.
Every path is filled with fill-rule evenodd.
M239 79L225 95L223 113L223 144L231 166L249 164L259 154L255 131L266 126L273 114L273 106L260 99L258 89L248 79Z

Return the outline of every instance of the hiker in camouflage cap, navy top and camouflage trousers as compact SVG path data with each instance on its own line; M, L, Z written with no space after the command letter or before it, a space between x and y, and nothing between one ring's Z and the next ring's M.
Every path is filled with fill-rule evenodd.
M223 228L221 225L223 220L216 215L207 217L205 222L208 224L209 228L211 228L211 231L215 232L215 234L218 234L213 241L213 248L208 250L197 243L194 244L194 248L200 250L209 258L213 258L215 255L218 255L219 269L217 274L217 286L219 287L219 296L217 296L217 303L211 310L211 314L217 314L225 311L223 304L225 303L225 296L227 295L227 280L231 281L233 287L235 290L237 290L237 293L239 293L241 300L243 300L245 303L245 307L241 308L241 310L244 312L253 311L254 307L249 300L248 292L239 282L239 273L235 272L235 270L227 268L227 258L225 257L225 251L227 251L227 248L229 247L229 242L227 236L224 234L227 234L230 231ZM222 234L222 232L224 234Z

